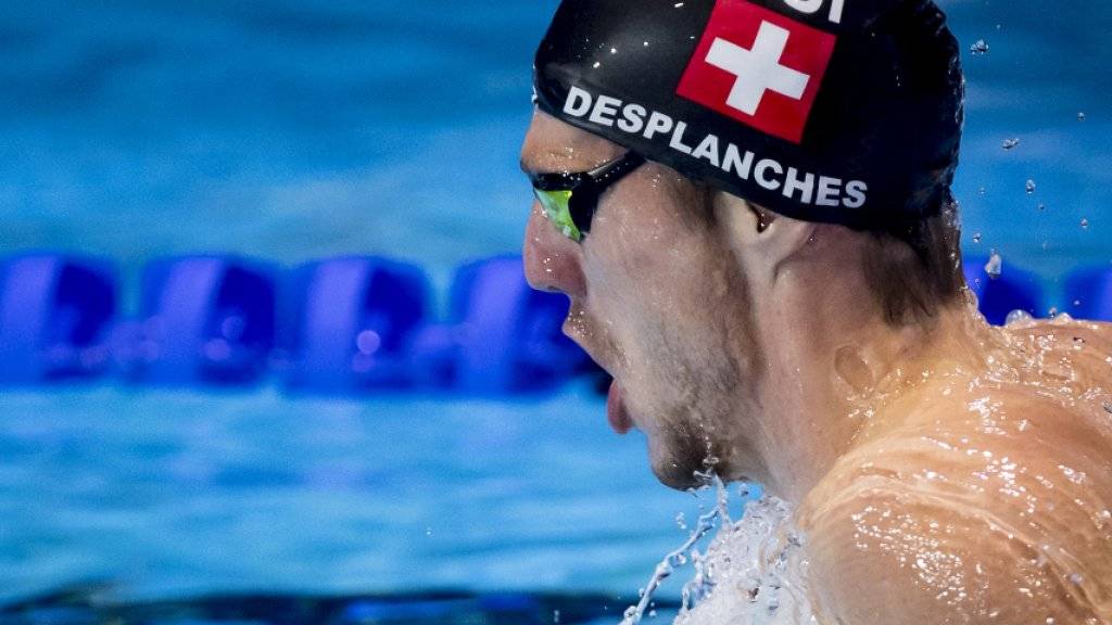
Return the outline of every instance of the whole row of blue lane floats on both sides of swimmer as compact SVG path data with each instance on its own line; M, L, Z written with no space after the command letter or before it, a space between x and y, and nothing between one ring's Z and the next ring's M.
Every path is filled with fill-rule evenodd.
M986 260L970 257L965 276L989 321L1002 324L1016 309L1045 312L1045 285L1034 274L1006 265L991 278ZM140 317L120 321L116 272L106 262L66 254L0 262L0 384L115 369L158 385L248 384L274 374L287 388L320 393L417 387L497 396L590 370L560 331L567 299L530 289L516 256L461 267L443 320L428 312L419 268L377 257L288 274L234 256L175 257L151 262L142 289ZM1112 267L1079 270L1054 294L1074 317L1112 321Z

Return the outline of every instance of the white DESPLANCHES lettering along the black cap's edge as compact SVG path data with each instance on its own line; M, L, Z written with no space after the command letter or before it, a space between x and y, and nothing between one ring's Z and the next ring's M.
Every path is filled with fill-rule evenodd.
M857 209L865 206L868 186L862 180L845 181L832 176L820 176L784 167L772 158L757 158L751 151L742 151L736 145L722 141L708 133L694 145L685 143L687 122L677 121L659 111L651 111L634 102L623 102L617 98L593 96L585 89L573 86L564 102L564 113L578 119L586 118L592 123L617 128L629 135L641 135L653 139L671 135L668 147L691 158L699 159L734 173L742 180L751 178L763 189L780 191L784 197L801 204L831 208Z

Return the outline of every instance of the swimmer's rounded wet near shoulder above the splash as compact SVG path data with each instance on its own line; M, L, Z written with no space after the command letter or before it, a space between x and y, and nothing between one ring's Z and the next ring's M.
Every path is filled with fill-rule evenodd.
M933 404L801 509L816 603L855 625L1112 619L1110 460L1102 430L1054 400Z

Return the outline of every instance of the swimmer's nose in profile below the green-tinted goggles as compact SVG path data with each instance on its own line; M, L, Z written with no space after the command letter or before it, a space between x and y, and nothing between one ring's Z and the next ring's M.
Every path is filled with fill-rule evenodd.
M523 258L525 278L533 288L563 292L572 299L586 297L579 245L556 231L538 202L533 204L525 228Z

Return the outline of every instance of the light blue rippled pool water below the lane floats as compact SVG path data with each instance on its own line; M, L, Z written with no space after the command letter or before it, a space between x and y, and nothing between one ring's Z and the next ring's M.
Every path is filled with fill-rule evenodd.
M575 386L535 399L0 395L0 602L419 588L636 593L702 499ZM713 503L713 502L712 502Z

